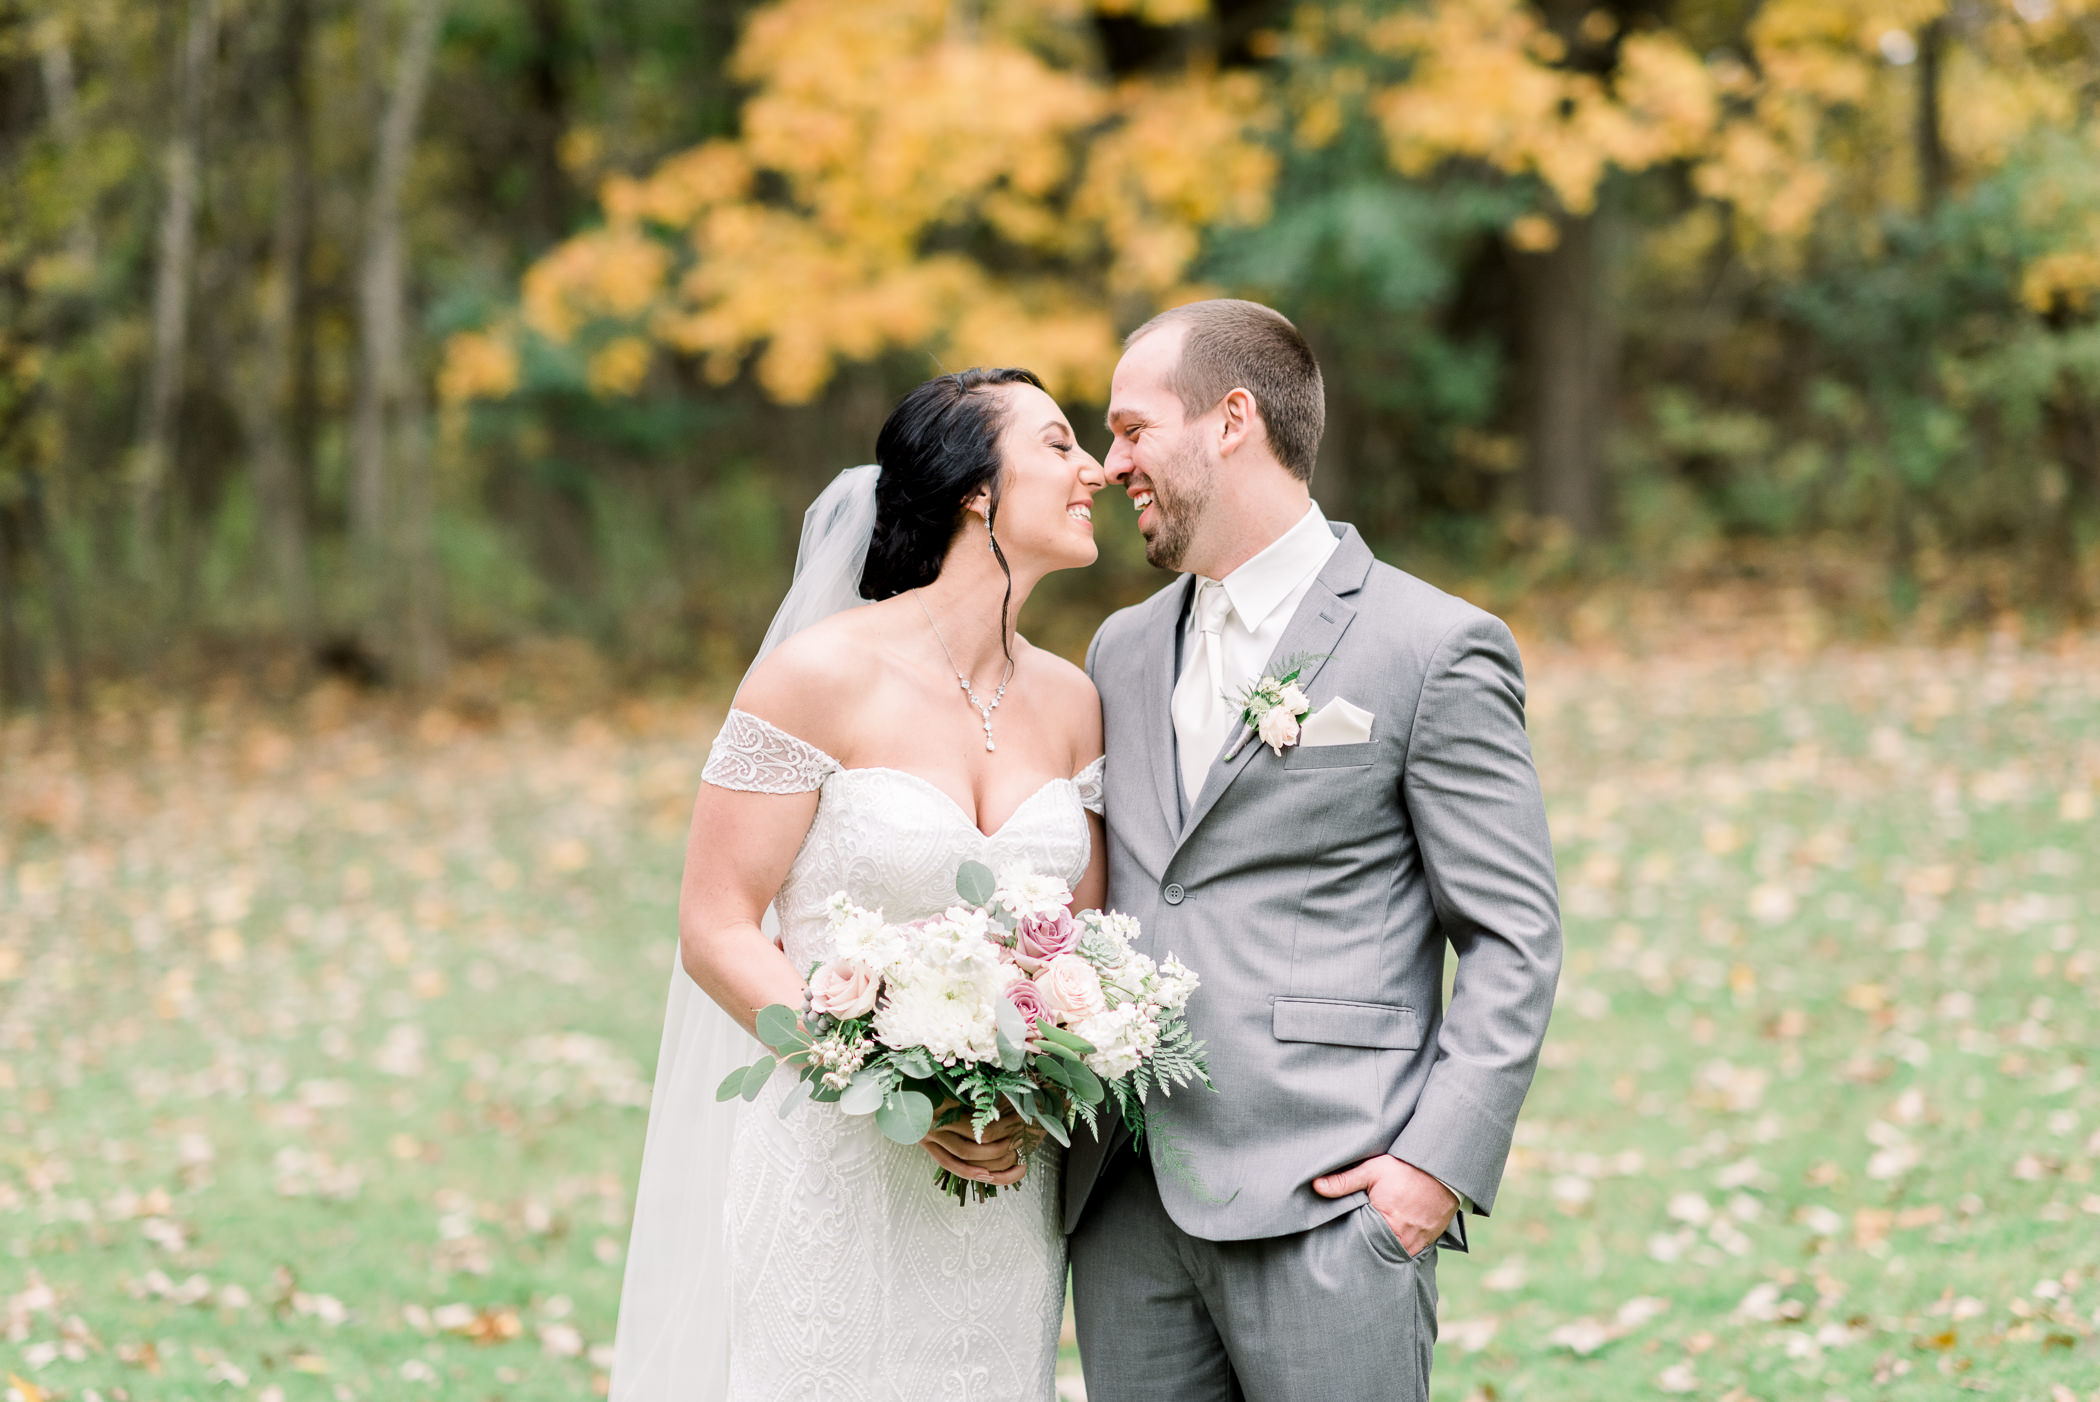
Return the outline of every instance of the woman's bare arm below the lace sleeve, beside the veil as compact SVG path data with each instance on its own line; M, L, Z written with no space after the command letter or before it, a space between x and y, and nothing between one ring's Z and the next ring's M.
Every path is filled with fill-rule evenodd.
M758 921L817 816L817 793L741 793L699 785L678 888L685 972L743 1031L769 1003L802 1007L802 974Z

